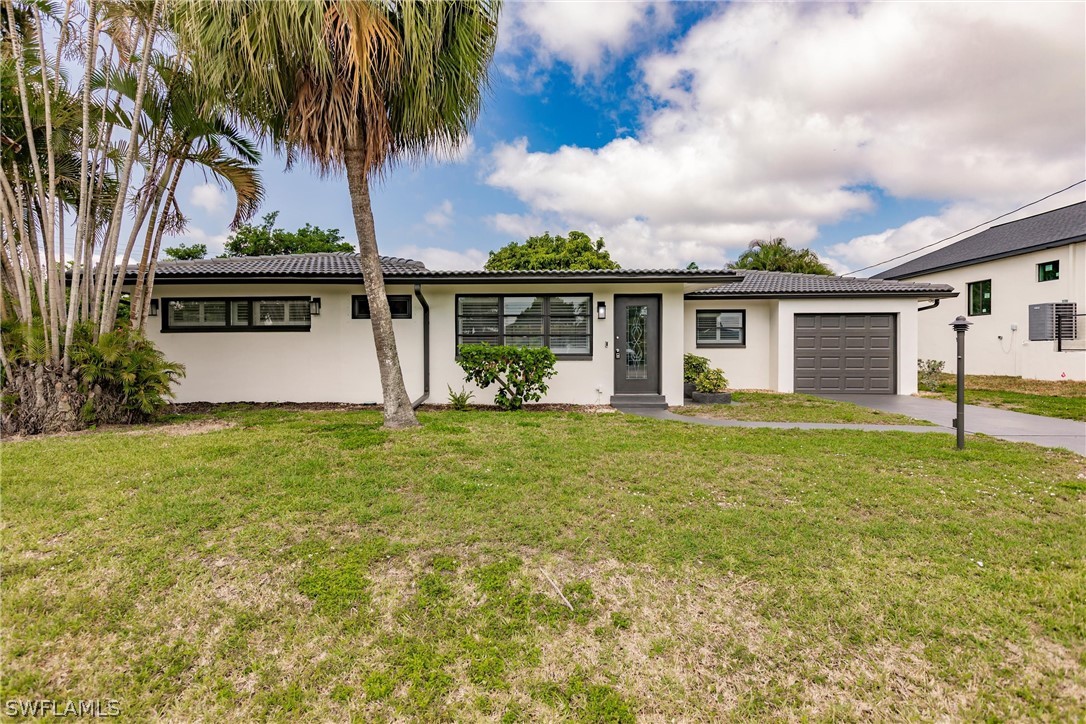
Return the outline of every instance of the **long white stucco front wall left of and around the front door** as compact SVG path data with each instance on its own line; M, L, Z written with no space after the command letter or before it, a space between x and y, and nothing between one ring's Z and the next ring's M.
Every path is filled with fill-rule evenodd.
M388 288L390 294L413 294L411 287ZM182 363L188 374L178 386L178 402L348 402L379 403L381 383L370 323L351 319L354 284L165 284L154 297L318 296L320 315L308 332L163 332L162 316L150 320L149 336L166 357ZM464 381L456 365L455 299L464 294L593 295L593 357L559 361L558 373L543 402L607 404L614 393L615 294L659 294L660 382L670 404L682 404L682 284L516 284L426 285L430 305L430 401L447 401L449 386L465 386L475 402L489 403ZM607 303L607 319L595 318L595 303ZM164 312L163 312L164 313ZM394 320L396 344L407 393L422 394L422 309L413 297L412 319Z

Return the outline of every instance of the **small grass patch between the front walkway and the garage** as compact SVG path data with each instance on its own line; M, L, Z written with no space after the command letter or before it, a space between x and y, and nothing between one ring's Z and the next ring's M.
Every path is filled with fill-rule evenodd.
M757 422L845 422L860 424L931 424L896 412L883 412L815 395L736 392L731 405L685 405L672 411L693 417Z

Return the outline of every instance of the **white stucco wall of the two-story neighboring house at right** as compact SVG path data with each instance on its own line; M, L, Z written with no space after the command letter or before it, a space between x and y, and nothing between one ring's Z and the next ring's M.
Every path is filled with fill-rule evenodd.
M1037 265L1060 263L1060 278L1037 281ZM947 370L956 363L955 338L947 326L958 315L968 316L968 284L992 280L992 314L968 317L973 322L965 334L965 371L970 374L1012 374L1030 379L1086 380L1086 317L1078 318L1078 340L1064 342L1074 352L1057 352L1056 342L1030 341L1030 305L1076 302L1086 314L1086 243L1033 252L970 267L909 279L950 284L958 297L944 300L920 315L920 356L942 359ZM1012 329L1015 326L1018 329ZM1002 338L1002 339L1000 339Z

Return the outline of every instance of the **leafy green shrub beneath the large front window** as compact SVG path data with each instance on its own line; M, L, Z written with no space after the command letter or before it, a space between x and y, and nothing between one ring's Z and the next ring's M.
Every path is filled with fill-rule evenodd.
M520 409L546 394L547 378L554 377L557 359L546 347L513 347L490 344L460 345L460 367L467 379L485 390L497 383L494 404L504 410Z

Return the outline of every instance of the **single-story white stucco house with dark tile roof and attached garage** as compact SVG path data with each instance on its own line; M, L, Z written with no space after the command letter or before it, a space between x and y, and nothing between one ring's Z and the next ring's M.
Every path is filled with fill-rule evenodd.
M472 389L456 364L466 342L550 346L548 403L681 405L684 352L733 388L911 394L918 307L955 295L766 271L382 264L407 392L434 403ZM149 336L187 368L180 402L378 403L368 312L355 254L161 262Z

